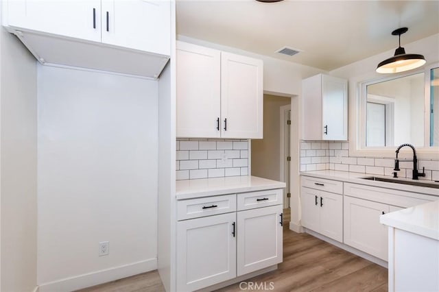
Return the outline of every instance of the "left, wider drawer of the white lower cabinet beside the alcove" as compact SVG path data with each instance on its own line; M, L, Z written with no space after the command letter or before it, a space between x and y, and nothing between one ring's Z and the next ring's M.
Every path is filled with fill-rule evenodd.
M236 195L219 195L177 201L177 220L185 220L236 211Z

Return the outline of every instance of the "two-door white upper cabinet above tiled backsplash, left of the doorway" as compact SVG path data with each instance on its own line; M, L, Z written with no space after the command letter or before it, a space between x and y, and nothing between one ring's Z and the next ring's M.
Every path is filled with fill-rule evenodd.
M177 42L177 136L262 138L263 62Z

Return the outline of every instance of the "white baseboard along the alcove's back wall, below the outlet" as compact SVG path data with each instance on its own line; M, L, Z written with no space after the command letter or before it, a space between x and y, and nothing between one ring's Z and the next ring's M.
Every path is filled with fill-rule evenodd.
M154 269L157 269L157 258L150 258L149 260L142 260L137 263L86 273L71 278L64 278L54 282L43 283L39 285L38 292L73 291L134 276Z

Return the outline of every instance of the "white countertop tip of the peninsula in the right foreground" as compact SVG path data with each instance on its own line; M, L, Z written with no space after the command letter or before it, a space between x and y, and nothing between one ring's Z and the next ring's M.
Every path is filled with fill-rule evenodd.
M439 241L439 200L381 215L379 221Z

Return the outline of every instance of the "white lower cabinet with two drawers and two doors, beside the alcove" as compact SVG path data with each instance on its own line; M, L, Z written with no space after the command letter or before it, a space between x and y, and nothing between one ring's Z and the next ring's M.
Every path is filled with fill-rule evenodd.
M275 189L178 201L176 291L202 289L281 263L281 195Z

